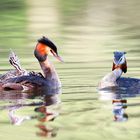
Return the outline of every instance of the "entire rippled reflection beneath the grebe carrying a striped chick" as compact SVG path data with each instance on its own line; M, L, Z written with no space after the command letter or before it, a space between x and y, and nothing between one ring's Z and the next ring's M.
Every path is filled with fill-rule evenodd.
M35 93L35 94L34 94ZM39 129L36 132L37 136L43 137L55 137L58 129L50 128L47 126L49 121L54 121L58 117L57 111L49 110L48 107L52 105L59 105L61 102L60 89L55 89L51 92L40 90L32 93L22 93L19 91L1 91L0 101L4 101L4 105L1 104L0 110L8 112L9 120L12 125L21 125L23 122L38 120L35 125ZM33 100L37 99L37 101ZM17 115L19 110L23 110L26 107L32 107L36 115ZM24 111L22 112L22 114ZM1 121L1 123L3 123Z

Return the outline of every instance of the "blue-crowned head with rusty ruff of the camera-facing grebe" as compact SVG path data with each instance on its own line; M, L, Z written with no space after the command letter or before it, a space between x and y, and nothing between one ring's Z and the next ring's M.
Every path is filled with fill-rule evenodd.
M125 58L126 52L115 51L113 59L112 70L116 68L121 68L124 73L127 72L127 62Z

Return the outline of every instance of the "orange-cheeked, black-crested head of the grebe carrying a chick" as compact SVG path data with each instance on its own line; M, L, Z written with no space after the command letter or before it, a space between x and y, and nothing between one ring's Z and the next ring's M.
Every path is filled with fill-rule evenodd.
M56 45L48 38L43 36L38 40L34 55L40 62L43 62L46 60L47 55L49 54L57 58L59 61L63 61L58 55Z

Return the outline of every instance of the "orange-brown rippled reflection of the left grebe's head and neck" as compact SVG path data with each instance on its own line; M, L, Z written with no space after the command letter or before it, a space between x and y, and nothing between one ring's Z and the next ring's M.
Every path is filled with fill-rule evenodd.
M58 117L59 113L56 111L48 110L47 106L59 104L60 98L59 94L60 89L52 95L45 95L43 96L43 102L44 104L36 107L34 109L35 112L38 113L38 115L33 116L32 118L36 118L38 120L38 124L36 125L37 128L39 128L39 131L36 132L37 136L43 136L43 137L56 137L57 135L57 129L56 128L50 128L46 125L46 122L48 121L54 121L56 117Z

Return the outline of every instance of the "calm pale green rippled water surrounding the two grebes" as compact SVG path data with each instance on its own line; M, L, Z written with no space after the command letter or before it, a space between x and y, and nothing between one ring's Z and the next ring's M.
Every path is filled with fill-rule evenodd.
M33 49L42 35L57 44L65 61L59 63L50 57L63 87L57 98L61 103L49 107L59 115L54 121L42 124L47 131L42 137L57 140L140 138L139 94L118 93L118 105L112 101L114 91L97 91L100 79L111 71L115 50L127 52L128 72L123 76L140 78L139 12L138 0L0 1L1 74L12 69L8 63L10 48L20 57L23 68L40 71ZM1 139L41 139L37 119L15 126L8 117L8 110L13 106L18 108L16 114L20 117L36 116L34 109L42 102L42 97L32 94L1 93ZM123 122L114 121L118 106L128 116Z

